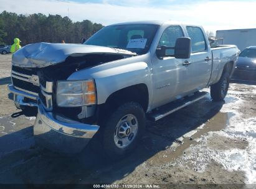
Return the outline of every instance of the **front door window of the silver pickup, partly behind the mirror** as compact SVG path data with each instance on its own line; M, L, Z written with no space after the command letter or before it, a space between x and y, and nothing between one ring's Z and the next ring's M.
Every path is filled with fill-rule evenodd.
M166 30L164 30L163 35L161 39L159 40L158 45L159 46L168 46L168 47L174 47L176 40L179 37L183 37L183 30L179 25L172 25L168 27ZM174 49L168 49L166 50L166 54L168 55L174 55Z

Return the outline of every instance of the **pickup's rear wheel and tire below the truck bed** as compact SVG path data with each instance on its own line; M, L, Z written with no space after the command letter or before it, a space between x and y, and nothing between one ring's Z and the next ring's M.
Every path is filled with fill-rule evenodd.
M220 80L211 86L211 97L213 101L222 101L229 90L229 73L225 72L220 77Z

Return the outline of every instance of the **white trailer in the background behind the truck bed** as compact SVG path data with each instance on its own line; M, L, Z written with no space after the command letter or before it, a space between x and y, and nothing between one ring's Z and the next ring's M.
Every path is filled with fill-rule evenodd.
M239 50L256 46L256 28L217 30L216 39L219 45L237 45Z

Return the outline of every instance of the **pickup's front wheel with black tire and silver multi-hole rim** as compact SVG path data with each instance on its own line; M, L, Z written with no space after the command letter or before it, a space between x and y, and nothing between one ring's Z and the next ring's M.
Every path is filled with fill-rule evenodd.
M121 159L135 149L145 130L145 111L135 102L119 106L103 127L102 144L112 160Z

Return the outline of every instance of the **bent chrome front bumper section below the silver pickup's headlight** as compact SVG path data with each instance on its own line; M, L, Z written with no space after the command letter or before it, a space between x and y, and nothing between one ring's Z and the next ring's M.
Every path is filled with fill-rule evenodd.
M100 127L83 124L45 111L39 104L34 124L37 144L63 154L80 152Z

